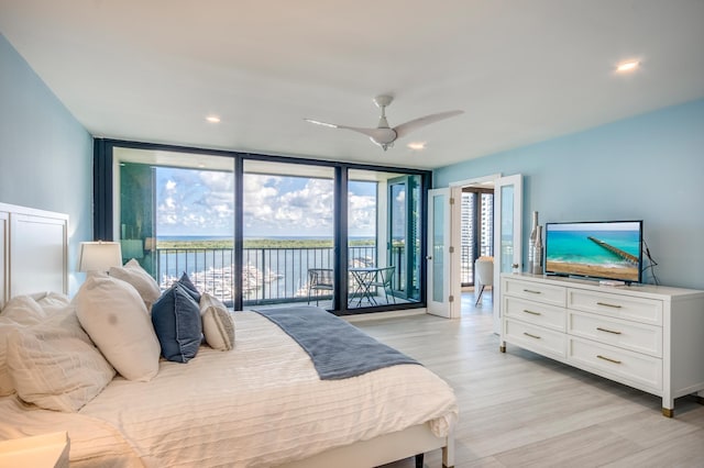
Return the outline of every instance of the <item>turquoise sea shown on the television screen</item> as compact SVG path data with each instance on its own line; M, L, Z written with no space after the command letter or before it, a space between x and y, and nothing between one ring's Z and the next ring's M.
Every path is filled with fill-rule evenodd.
M640 256L638 231L549 231L546 260L594 266L627 266L618 255L590 241L593 236L636 257Z

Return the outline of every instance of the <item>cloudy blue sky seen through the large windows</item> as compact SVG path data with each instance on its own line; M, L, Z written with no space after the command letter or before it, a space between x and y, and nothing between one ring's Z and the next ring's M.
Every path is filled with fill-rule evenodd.
M349 186L349 235L372 237L376 185ZM158 236L230 236L234 225L232 172L158 167ZM244 175L244 236L332 237L333 181Z

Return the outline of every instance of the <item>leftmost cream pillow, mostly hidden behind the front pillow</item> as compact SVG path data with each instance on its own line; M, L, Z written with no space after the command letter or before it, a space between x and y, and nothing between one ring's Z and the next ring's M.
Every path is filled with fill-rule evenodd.
M11 299L0 312L0 397L14 392L8 368L8 336L14 328L35 325L45 317L40 304L30 296L18 296Z

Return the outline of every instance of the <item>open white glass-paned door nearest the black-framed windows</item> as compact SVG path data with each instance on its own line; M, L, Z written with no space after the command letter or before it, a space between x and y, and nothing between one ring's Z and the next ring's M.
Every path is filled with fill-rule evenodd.
M454 285L460 261L452 235L453 220L460 220L459 192L460 188L428 191L428 313L448 319L460 316L460 291Z

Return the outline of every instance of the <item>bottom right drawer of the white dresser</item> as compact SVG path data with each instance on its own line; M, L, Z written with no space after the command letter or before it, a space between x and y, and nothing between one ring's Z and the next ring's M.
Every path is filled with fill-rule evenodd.
M662 390L662 359L570 337L568 363L623 383Z

